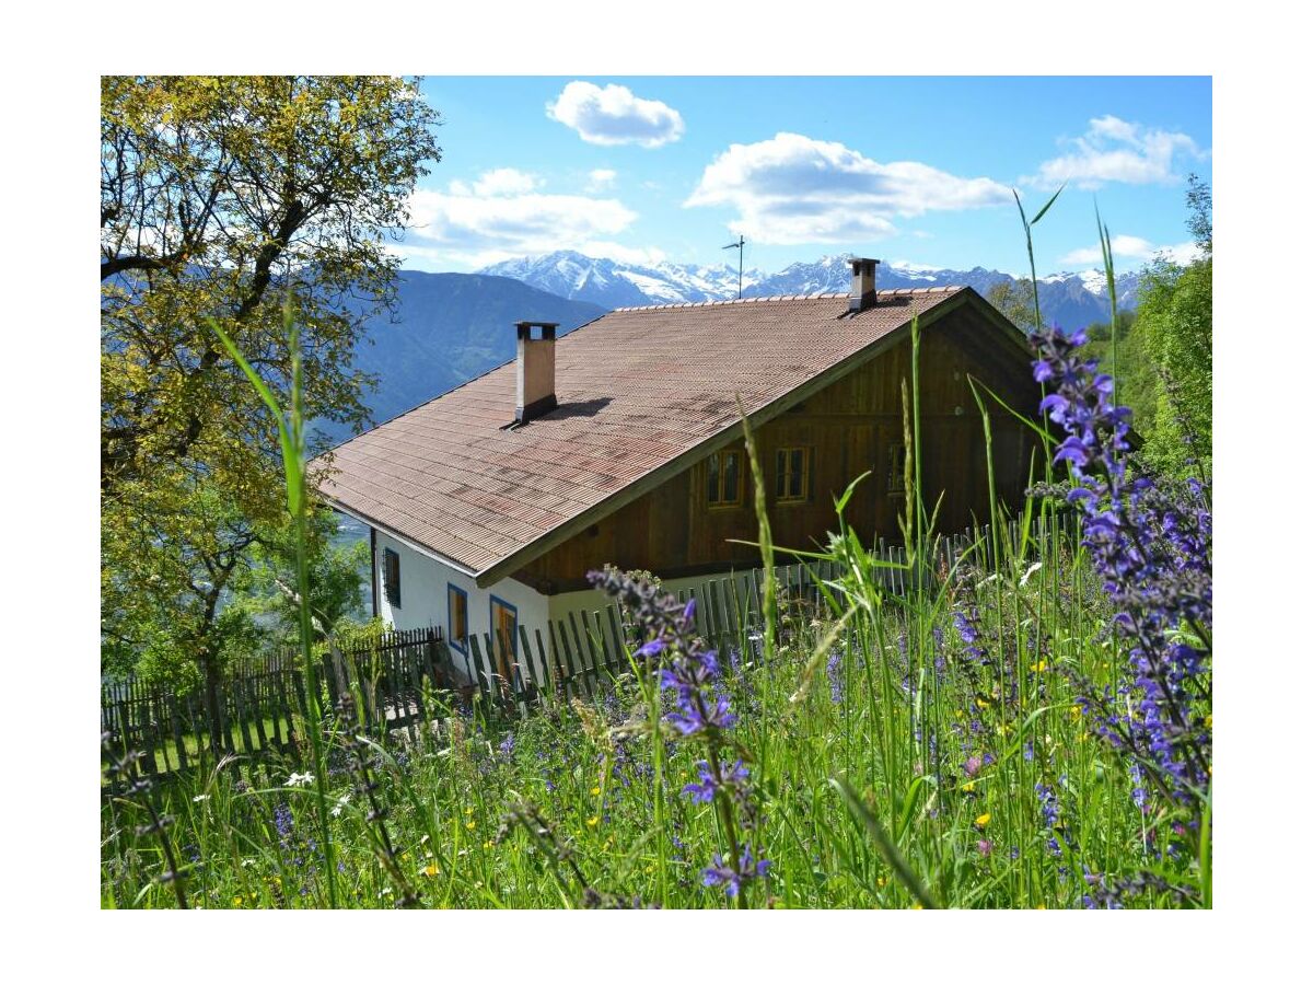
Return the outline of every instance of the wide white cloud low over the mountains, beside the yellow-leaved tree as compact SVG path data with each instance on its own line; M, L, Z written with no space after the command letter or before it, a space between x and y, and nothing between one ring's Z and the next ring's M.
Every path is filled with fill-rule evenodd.
M398 252L416 264L484 265L512 256L612 246L637 217L616 198L549 194L541 180L498 168L446 190L411 196L411 226Z

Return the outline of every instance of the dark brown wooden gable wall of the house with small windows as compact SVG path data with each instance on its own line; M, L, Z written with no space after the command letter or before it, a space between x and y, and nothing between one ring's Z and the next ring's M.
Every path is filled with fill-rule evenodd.
M906 381L910 394L910 376L911 340L906 336L825 389L800 395L758 431L776 545L823 545L826 532L835 527L835 498L865 471L871 475L846 510L848 524L867 542L877 535L901 540L902 387ZM1040 401L1024 343L1001 319L964 305L923 331L922 489L927 508L943 494L936 527L945 532L983 523L989 515L985 435L969 376L1032 418ZM987 395L986 401L989 406ZM1015 510L1032 468L1039 469L1043 458L1032 432L997 405L990 408L990 424L995 491L1001 503ZM714 462L709 453L513 577L554 595L586 588L584 574L608 562L666 579L760 563L756 548L733 542L758 536L742 439L714 454ZM730 471L737 473L737 490L727 489Z

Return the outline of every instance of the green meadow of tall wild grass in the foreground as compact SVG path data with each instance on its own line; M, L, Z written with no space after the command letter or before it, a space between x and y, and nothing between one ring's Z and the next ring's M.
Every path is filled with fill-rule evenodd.
M737 898L706 869L737 844L742 816L684 792L706 747L670 728L671 691L634 657L604 696L551 700L524 721L446 707L445 726L418 742L357 735L343 709L314 707L309 775L227 760L110 797L102 905L1209 906L1211 806L1200 826L1170 799L1145 801L1142 764L1091 722L1090 691L1129 700L1130 670L1090 550L1066 532L1070 508L1037 498L1010 517L991 491L987 536L936 566L915 360L910 382L909 591L885 587L886 562L844 521L856 483L825 552L773 545L758 495L768 570L792 554L839 574L818 609L769 582L764 608L779 604L785 632L771 620L720 654L714 691L737 721L713 756L746 766L769 863ZM267 401L284 422L295 516L297 414ZM309 651L309 628L303 640Z

